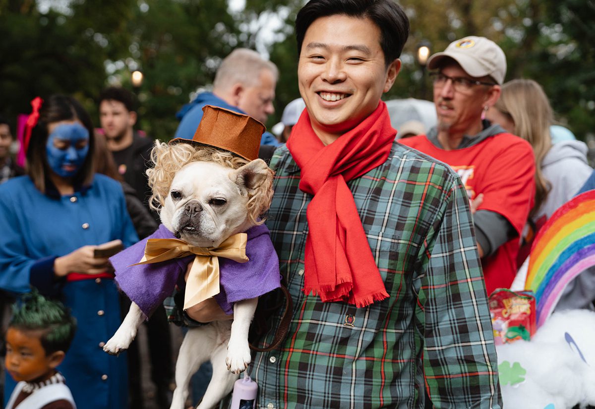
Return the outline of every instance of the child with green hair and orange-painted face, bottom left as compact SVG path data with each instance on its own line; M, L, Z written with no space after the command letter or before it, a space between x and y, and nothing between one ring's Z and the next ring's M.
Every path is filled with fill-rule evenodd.
M7 372L18 381L5 409L76 409L56 369L74 338L76 320L37 291L23 296L6 333Z

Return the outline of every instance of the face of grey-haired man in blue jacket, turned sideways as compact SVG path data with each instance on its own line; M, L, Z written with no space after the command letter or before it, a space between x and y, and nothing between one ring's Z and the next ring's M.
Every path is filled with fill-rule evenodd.
M263 124L267 122L268 115L274 114L275 86L277 81L270 70L263 69L258 76L258 84L245 87L239 95L237 108L242 109L250 117L258 119Z

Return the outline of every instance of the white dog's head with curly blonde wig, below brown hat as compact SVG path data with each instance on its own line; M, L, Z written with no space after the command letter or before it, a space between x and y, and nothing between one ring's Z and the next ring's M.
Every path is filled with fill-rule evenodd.
M156 143L152 159L152 205L164 226L193 246L219 246L261 223L270 205L273 171L262 159L190 143Z

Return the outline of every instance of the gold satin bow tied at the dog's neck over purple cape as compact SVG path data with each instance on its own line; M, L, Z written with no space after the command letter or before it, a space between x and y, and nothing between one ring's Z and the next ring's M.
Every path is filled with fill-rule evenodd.
M145 246L145 256L133 264L159 263L165 260L180 259L195 254L194 263L186 280L184 310L201 301L219 294L219 258L238 263L249 261L246 256L246 233L234 234L219 247L196 247L177 238L149 238Z

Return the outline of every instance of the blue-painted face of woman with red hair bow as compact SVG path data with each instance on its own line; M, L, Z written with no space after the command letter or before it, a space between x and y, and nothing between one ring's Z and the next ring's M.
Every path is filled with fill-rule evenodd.
M58 125L45 146L48 165L58 176L77 174L89 152L89 131L78 122Z

